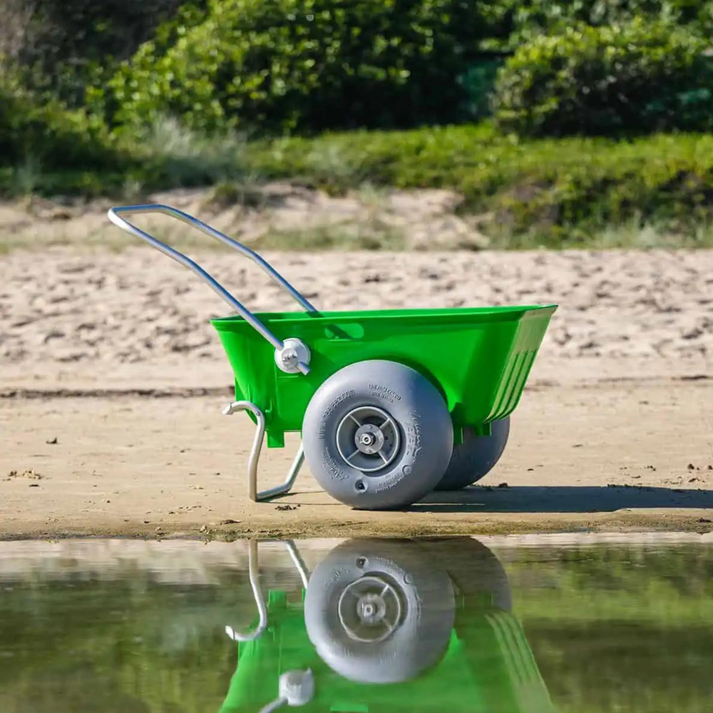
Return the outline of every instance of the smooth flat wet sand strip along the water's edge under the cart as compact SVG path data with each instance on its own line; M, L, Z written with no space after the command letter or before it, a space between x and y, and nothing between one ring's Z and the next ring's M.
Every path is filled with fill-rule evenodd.
M389 513L342 506L307 469L289 496L251 503L252 424L220 415L227 389L34 396L0 400L0 538L713 530L708 379L535 380L481 487ZM261 486L296 445L265 451Z

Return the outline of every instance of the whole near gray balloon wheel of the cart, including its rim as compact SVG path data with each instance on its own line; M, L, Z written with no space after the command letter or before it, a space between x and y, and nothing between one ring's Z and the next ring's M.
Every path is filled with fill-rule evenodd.
M347 505L384 510L432 491L453 449L436 387L404 364L359 361L324 381L302 424L304 457L319 485Z

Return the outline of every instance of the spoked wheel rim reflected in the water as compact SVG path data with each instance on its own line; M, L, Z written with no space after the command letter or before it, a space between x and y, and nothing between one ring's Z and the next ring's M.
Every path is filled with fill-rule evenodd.
M339 621L354 641L378 643L388 638L401 622L401 597L389 582L365 575L344 589L339 597Z

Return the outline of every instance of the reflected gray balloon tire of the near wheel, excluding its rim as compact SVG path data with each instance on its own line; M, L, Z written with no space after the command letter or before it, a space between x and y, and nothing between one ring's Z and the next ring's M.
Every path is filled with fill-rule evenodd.
M360 560L365 560L359 566ZM349 637L339 618L339 597L366 574L390 580L404 597L406 614L385 640ZM443 657L456 619L451 580L429 554L409 540L348 540L309 576L304 624L319 657L354 682L386 684L413 679Z

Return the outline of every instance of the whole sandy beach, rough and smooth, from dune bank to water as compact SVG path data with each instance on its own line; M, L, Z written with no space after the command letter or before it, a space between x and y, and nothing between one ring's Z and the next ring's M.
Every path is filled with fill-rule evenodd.
M194 255L250 307L290 307L237 256ZM292 495L250 503L252 426L220 415L231 374L207 323L227 306L148 248L14 250L0 538L713 529L713 252L266 257L325 309L560 303L482 487L367 513L305 470ZM288 446L267 451L265 485Z

